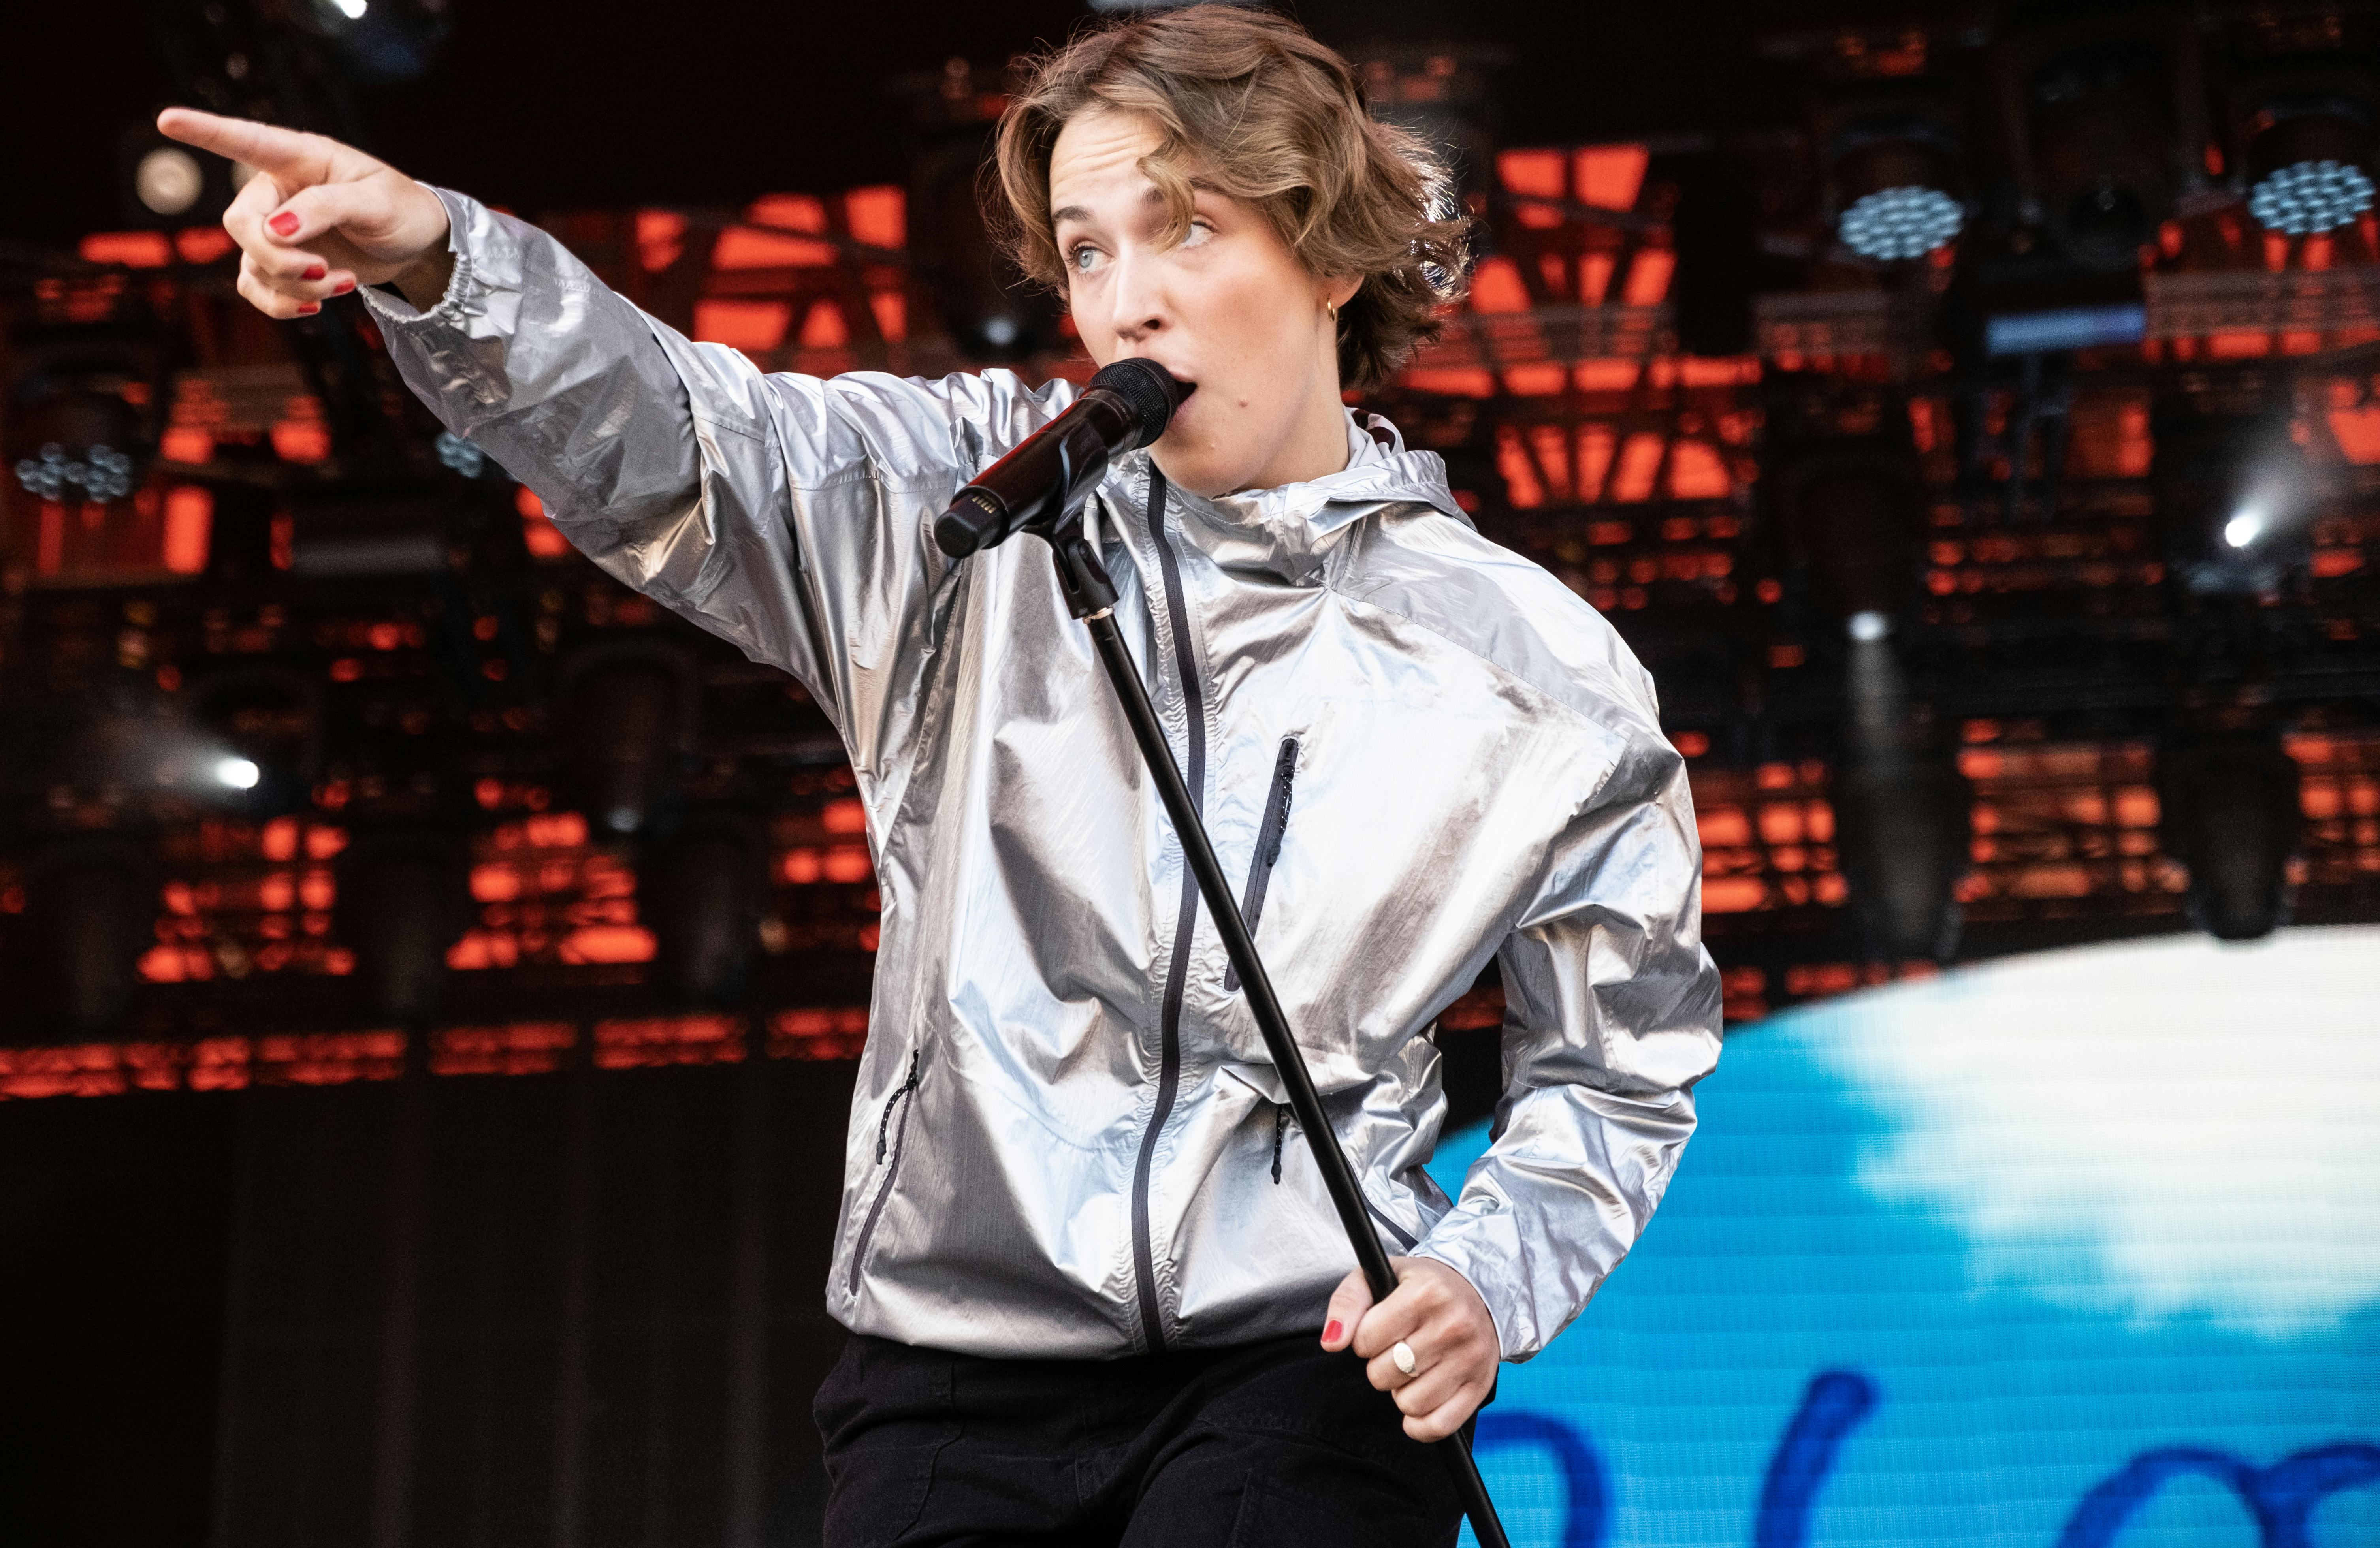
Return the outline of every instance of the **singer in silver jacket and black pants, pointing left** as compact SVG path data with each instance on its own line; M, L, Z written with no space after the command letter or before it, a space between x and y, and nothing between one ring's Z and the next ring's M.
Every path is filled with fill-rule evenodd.
M800 678L850 749L883 944L826 1286L852 1329L816 1403L826 1541L1452 1543L1423 1441L1645 1229L1718 977L1652 680L1471 528L1435 454L1342 407L1461 285L1438 159L1238 7L1081 33L997 147L1016 254L1090 357L1190 385L1088 514L1399 1253L1373 1305L1040 545L933 540L1066 383L764 376L345 145L159 126L259 169L224 219L248 300L364 285L447 428L612 575ZM1490 961L1507 1089L1447 1198L1433 1022Z

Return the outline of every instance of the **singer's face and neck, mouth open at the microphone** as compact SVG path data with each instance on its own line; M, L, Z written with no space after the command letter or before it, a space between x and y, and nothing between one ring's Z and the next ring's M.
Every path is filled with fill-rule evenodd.
M1250 204L1195 188L1190 235L1164 247L1166 204L1140 171L1157 126L1128 112L1066 121L1050 209L1073 326L1090 359L1145 357L1197 392L1157 466L1197 495L1264 490L1347 466L1338 326L1354 281L1307 273Z

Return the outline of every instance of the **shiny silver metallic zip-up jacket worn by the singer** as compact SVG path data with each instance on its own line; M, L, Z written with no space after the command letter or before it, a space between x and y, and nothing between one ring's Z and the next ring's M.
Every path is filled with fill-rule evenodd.
M455 193L405 380L595 564L800 678L850 747L883 942L828 1310L985 1355L1311 1332L1354 1265L1197 887L1038 540L933 518L1066 407L1007 371L762 376ZM1392 1253L1507 1358L1661 1201L1718 1058L1702 856L1649 675L1480 537L1430 452L1223 499L1123 457L1116 618ZM1385 442L1385 445L1383 445ZM1421 1170L1435 1015L1497 958L1504 1096L1459 1201Z

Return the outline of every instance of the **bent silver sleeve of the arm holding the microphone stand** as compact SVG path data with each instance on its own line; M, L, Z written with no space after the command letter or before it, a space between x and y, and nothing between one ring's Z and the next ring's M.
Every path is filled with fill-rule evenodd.
M1685 761L1640 732L1497 951L1504 1096L1461 1198L1416 1246L1488 1303L1507 1360L1542 1351L1645 1232L1718 1063L1702 844Z

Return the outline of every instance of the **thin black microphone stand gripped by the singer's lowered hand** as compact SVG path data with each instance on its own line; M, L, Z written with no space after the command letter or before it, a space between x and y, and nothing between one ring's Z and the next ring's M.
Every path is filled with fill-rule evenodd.
M1057 497L1047 502L1054 518L1028 521L1023 530L1050 545L1050 559L1057 564L1057 583L1066 594L1066 609L1090 628L1090 637L1100 647L1100 666L1107 668L1107 680L1116 690L1123 718L1133 723L1140 759L1150 766L1150 778L1157 780L1157 794L1166 804L1166 816L1173 818L1173 832L1183 842L1183 858L1190 861L1190 875L1197 877L1207 913L1214 915L1216 932L1223 937L1223 951L1240 973L1247 1008L1257 1013L1257 1030L1264 1032L1264 1046L1273 1056L1280 1084L1290 1094L1290 1110L1297 1113L1297 1125L1307 1132L1307 1146L1323 1170L1323 1187L1330 1189L1330 1203L1338 1208L1347 1241L1354 1246L1354 1260L1371 1286L1373 1305L1378 1305L1397 1289L1397 1272L1388 1265L1388 1248L1380 1246L1380 1236L1364 1210L1364 1194L1357 1187L1354 1168L1347 1165L1347 1151L1340 1149L1338 1129L1330 1127L1330 1118L1323 1113L1323 1099L1314 1089L1307 1056L1297 1049L1297 1039L1290 1037L1290 1020L1280 1013L1280 1001L1273 996L1273 980L1264 973L1257 942L1247 935L1247 920L1240 918L1240 906L1230 899L1230 882L1223 877L1223 866L1214 858L1207 823L1200 820L1197 806L1190 804L1190 787L1173 761L1173 747L1157 720L1157 706L1150 704L1150 690L1140 685L1140 668L1133 666L1133 652L1123 644L1123 633L1116 630L1116 585L1109 580L1097 549L1083 535L1081 499L1066 497L1069 483L1061 476ZM1464 1500L1464 1515L1471 1517L1471 1531L1478 1534L1480 1548L1511 1548L1511 1538L1504 1536L1504 1522L1497 1519L1495 1500L1488 1498L1488 1481L1480 1479L1478 1462L1471 1458L1471 1443L1464 1441L1461 1431L1454 1431L1438 1446L1454 1472L1454 1493Z

